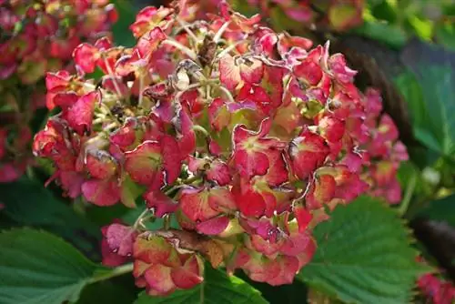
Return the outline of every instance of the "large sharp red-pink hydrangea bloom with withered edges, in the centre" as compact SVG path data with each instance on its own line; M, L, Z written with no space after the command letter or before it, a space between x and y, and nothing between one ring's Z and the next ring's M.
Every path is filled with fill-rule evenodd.
M379 94L362 95L329 44L309 50L224 2L209 21L179 12L147 7L131 25L135 47L82 44L78 75L48 74L48 105L61 112L35 136L35 154L54 161L70 198L146 201L133 226L103 228L103 251L109 265L134 260L149 294L201 282L201 257L290 283L314 254L312 228L383 187L389 167L376 159L406 151L389 117L378 122ZM96 67L104 76L86 79ZM163 228L148 230L156 218Z

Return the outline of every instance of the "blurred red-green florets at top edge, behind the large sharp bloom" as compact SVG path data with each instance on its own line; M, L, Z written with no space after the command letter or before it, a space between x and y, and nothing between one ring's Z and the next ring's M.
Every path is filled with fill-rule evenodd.
M222 0L168 0L180 5L186 20L216 14ZM308 28L347 31L363 23L364 0L229 0L242 13L260 12L272 25L303 32Z

